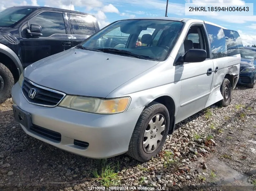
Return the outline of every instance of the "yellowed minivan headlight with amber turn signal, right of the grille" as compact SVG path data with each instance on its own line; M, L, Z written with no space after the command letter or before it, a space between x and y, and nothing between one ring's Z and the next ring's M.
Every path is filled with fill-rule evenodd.
M67 95L58 106L89 113L114 114L124 112L129 103L130 97L99 99Z

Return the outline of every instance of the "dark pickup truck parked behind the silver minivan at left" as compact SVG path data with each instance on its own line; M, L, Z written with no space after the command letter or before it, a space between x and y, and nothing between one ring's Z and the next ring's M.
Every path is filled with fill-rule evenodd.
M25 67L78 45L98 30L94 15L78 11L36 6L0 11L0 103Z

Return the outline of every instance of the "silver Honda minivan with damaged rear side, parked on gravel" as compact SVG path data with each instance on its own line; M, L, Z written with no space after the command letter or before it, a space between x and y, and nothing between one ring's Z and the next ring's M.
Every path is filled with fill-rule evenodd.
M63 150L148 161L176 123L230 104L242 46L238 32L201 20L116 21L25 68L12 88L14 116Z

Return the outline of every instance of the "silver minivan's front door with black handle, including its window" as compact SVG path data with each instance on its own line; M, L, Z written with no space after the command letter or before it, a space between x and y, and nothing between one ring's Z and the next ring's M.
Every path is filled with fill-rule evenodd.
M184 63L181 66L181 96L176 123L204 109L208 100L214 75L213 61L209 56L208 39L203 25L190 27L180 52L204 49L208 58L203 62Z

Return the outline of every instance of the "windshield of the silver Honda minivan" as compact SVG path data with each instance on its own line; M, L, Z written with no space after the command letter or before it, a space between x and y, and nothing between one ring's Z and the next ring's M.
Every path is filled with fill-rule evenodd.
M180 21L118 21L80 45L88 50L163 61L172 50L182 27L183 22Z

